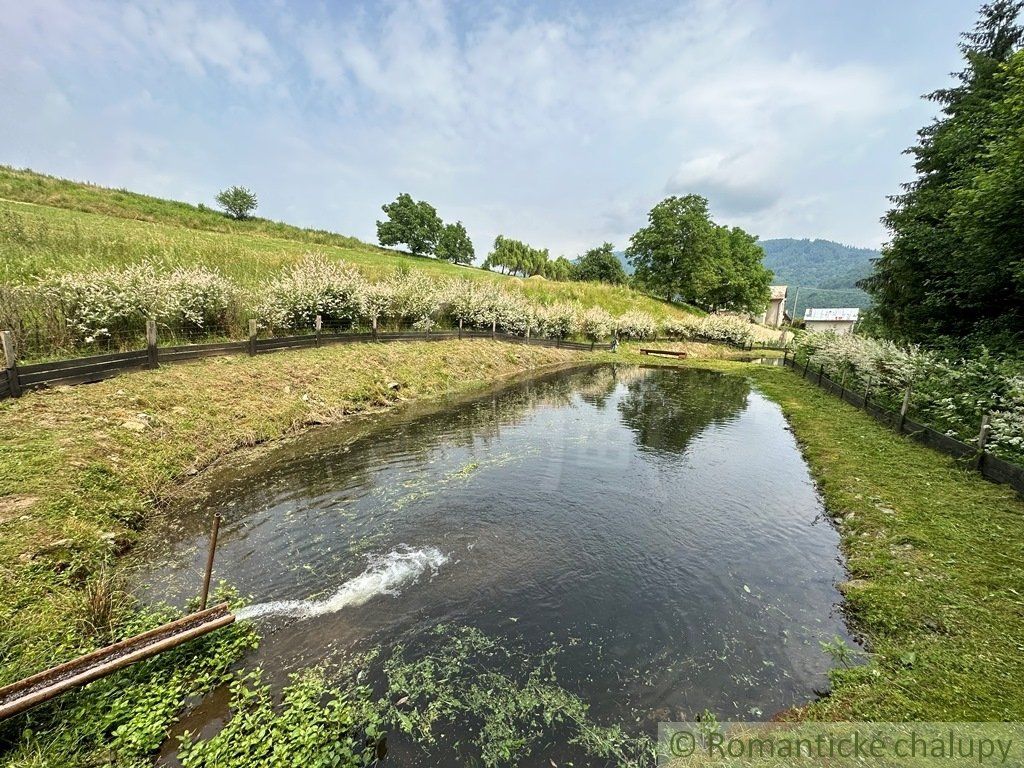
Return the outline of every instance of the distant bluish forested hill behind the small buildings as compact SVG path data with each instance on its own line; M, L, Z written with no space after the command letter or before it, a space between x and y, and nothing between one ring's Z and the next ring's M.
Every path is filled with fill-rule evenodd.
M871 259L881 254L870 248L853 248L830 240L763 240L765 266L775 273L774 285L790 286L787 309L793 311L797 288L797 317L813 307L866 308L870 298L857 281L871 272Z

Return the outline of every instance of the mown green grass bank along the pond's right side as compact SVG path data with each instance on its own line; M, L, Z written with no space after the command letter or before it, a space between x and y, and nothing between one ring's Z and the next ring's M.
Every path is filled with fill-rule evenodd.
M651 365L627 345L620 359ZM844 608L868 654L793 717L1024 719L1024 501L792 371L746 376L781 407L842 536Z

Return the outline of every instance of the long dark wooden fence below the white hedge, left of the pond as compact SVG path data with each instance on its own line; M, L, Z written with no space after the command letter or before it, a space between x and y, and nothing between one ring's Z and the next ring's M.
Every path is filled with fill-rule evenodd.
M0 399L17 397L26 389L49 386L85 384L115 376L123 371L157 368L162 362L181 362L213 355L266 354L285 349L303 349L328 344L390 343L402 341L445 341L452 339L495 339L531 346L557 347L592 351L594 343L561 339L528 338L492 331L394 331L394 332L334 332L317 331L299 336L275 336L259 339L253 334L248 341L223 341L181 346L160 346L156 326L147 330L147 346L124 352L108 352L86 357L17 365L10 332L0 332L6 368L0 370Z

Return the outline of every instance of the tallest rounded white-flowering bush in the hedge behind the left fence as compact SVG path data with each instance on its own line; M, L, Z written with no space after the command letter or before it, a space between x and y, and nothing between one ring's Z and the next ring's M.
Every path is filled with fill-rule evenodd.
M317 314L328 326L348 326L358 315L364 285L351 267L307 256L262 286L258 312L272 329L311 328Z

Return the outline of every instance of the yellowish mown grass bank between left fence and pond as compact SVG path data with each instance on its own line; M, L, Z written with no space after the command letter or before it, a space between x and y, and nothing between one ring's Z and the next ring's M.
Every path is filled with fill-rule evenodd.
M0 685L93 644L88 585L176 485L246 445L579 358L500 342L213 358L0 402Z

